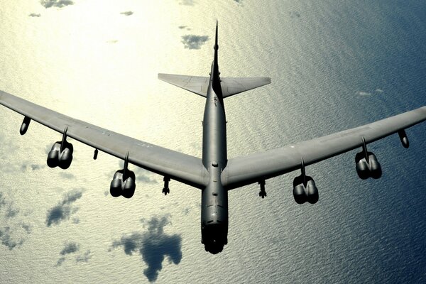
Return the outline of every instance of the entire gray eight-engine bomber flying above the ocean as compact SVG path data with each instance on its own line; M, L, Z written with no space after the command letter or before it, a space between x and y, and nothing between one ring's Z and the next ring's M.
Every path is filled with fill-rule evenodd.
M62 133L62 141L53 144L48 153L50 168L70 167L74 148L67 137L92 146L94 159L98 151L124 160L110 185L113 197L130 198L135 192L135 174L129 163L164 177L163 193L167 195L170 180L177 180L201 190L201 234L206 251L219 253L227 244L228 191L251 183L260 185L260 197L266 197L265 180L300 170L293 181L295 202L318 201L318 190L312 177L306 175L307 165L360 148L356 153L356 172L361 179L380 178L381 165L376 155L368 151L368 143L398 133L408 148L405 129L426 120L426 107L391 116L381 121L348 129L328 136L303 141L262 153L236 158L226 154L226 118L224 99L249 89L271 83L271 78L220 77L218 65L217 23L214 40L214 60L209 77L158 74L158 78L206 99L204 107L202 158L172 151L151 143L102 129L73 119L56 111L0 91L0 104L24 116L20 133L25 134L31 122L37 121Z

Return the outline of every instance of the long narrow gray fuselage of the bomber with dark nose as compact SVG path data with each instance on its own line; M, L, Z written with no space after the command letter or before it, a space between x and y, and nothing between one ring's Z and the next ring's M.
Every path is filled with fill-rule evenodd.
M228 192L221 181L221 173L227 163L226 117L217 65L217 45L214 49L202 124L202 163L209 171L209 183L202 189L201 236L206 251L219 253L228 242Z

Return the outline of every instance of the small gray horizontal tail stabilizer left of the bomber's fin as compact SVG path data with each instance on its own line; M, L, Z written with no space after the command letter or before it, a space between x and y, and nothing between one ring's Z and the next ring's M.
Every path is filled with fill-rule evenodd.
M202 97L207 96L207 88L209 87L209 77L174 75L174 74L158 74L158 79L174 84L175 86L186 89Z

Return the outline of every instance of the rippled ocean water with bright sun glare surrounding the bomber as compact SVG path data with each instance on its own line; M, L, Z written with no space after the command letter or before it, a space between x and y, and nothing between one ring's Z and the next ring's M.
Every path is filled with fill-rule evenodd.
M272 84L225 100L228 155L367 124L426 104L422 1L2 1L0 89L77 119L201 156L204 100L158 72L208 75L219 20L222 76ZM43 6L42 4L45 4ZM31 16L28 16L31 15ZM200 192L136 169L131 200L108 194L122 162L0 108L0 283L425 283L425 124L307 167L320 190L296 204L295 175L229 192L229 244L200 244Z

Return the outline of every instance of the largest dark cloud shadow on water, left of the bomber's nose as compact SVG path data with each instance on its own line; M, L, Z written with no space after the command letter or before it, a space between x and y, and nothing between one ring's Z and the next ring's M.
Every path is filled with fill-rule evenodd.
M123 246L124 253L129 256L136 252L140 253L148 266L143 274L150 282L157 280L166 257L169 263L179 264L182 260L182 237L164 232L164 227L170 224L169 218L170 214L163 217L154 216L148 221L142 219L141 222L144 227L148 227L148 231L121 236L121 239L112 244L112 248Z

